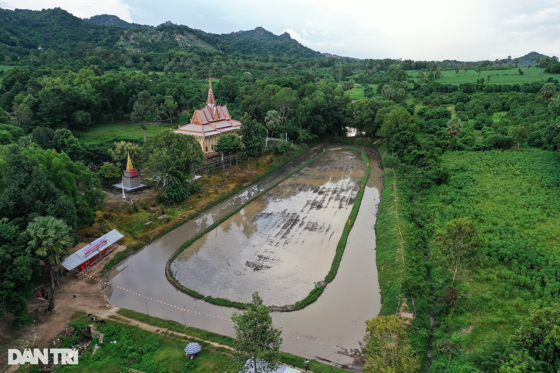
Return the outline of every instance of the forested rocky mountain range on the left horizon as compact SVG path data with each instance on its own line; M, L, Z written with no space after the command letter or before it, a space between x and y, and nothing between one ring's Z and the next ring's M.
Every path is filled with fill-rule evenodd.
M98 15L83 20L61 8L42 11L5 10L0 8L0 54L13 61L39 48L53 49L58 57L75 55L77 49L134 50L155 53L157 60L170 50L183 50L198 55L274 55L301 58L324 58L292 39L290 34L274 35L256 27L255 30L211 34L175 25L171 21L157 27L138 25L112 15ZM79 54L79 53L78 53Z

